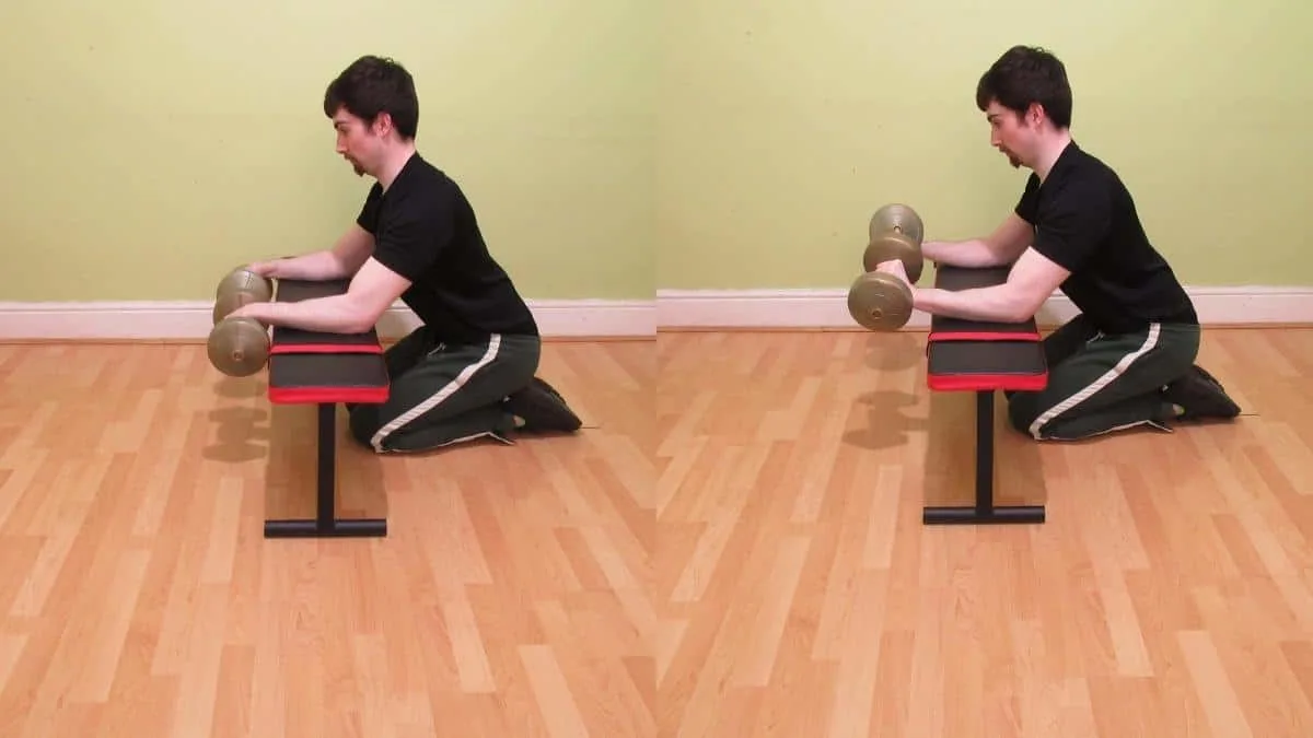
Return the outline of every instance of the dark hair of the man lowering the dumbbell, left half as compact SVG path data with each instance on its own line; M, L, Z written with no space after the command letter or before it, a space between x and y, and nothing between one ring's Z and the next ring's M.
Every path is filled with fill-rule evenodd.
M328 83L324 116L334 117L339 108L345 108L366 123L373 123L379 113L387 113L397 133L406 139L415 138L419 129L415 80L406 67L383 56L361 56Z

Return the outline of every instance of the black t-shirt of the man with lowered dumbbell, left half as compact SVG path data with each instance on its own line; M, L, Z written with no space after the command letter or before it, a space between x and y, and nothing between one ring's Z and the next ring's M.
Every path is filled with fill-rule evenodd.
M415 154L387 192L370 188L356 219L374 235L374 259L411 281L402 302L439 340L538 335L533 314L488 253L461 188Z

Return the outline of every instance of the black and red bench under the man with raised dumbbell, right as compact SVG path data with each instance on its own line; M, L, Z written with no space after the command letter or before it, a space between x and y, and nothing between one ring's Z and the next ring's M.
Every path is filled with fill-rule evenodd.
M999 285L1008 269L939 265L935 286L964 290ZM1044 523L1044 506L994 503L994 393L1037 391L1048 383L1035 319L991 323L934 315L926 355L931 390L976 393L976 504L927 506L923 524Z

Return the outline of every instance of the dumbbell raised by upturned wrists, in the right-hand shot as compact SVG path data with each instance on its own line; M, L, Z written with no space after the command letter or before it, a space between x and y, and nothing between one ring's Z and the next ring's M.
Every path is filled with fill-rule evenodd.
M897 331L911 318L911 290L898 277L877 272L884 261L899 259L907 281L916 284L924 268L920 242L924 225L907 205L885 205L871 217L869 240L861 255L864 274L848 288L848 313L869 331Z

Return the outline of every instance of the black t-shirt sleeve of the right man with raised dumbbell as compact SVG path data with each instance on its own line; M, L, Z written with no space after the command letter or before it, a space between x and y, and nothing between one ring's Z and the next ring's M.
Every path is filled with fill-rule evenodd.
M1070 183L1037 209L1033 248L1067 271L1077 271L1103 243L1112 221L1112 202L1100 183Z

